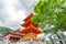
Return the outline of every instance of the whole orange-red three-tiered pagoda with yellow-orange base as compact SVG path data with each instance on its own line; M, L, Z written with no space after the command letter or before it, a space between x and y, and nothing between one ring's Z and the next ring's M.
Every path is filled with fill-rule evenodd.
M23 41L37 41L37 34L43 33L41 30L38 30L38 24L31 21L31 18L33 16L33 13L31 13L28 18L25 18L23 21L24 23L21 24L21 26L24 26L25 29L19 31L21 34L25 34L21 40Z

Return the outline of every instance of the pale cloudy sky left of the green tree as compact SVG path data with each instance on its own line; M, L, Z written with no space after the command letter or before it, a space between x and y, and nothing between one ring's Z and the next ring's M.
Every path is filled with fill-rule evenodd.
M0 26L21 28L23 19L33 10L36 0L0 0Z

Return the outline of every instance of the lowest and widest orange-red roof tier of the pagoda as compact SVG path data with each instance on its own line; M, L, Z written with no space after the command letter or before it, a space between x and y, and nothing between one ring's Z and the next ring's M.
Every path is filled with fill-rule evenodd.
M25 29L23 29L22 31L19 31L19 33L21 34L29 34L29 33L34 33L34 34L41 34L43 33L43 31L38 30L37 28L30 25Z

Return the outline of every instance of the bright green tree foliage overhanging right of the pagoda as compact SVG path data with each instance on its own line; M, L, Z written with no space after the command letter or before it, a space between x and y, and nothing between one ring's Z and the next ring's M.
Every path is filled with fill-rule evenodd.
M34 7L33 22L44 29L54 25L48 32L66 31L66 0L38 0Z

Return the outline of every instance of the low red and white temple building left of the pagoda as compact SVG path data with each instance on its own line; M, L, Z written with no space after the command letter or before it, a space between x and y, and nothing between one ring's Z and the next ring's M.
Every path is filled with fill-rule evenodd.
M23 34L18 33L18 31L19 30L7 32L3 37L7 38L9 42L18 42L21 37L24 36Z

